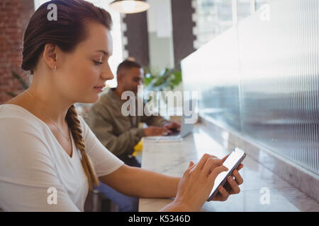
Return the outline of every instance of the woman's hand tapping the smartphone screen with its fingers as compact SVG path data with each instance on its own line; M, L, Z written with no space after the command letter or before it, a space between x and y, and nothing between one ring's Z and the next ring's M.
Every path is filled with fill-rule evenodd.
M213 155L204 154L196 165L190 162L179 182L174 205L185 211L201 210L211 194L217 175L227 170L223 160Z

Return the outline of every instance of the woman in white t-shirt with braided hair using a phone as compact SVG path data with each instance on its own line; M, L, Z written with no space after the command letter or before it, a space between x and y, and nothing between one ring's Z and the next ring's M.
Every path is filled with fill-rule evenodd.
M48 4L57 20L48 20ZM49 7L50 8L50 7ZM23 38L22 69L33 81L0 105L0 205L8 211L83 211L99 181L128 196L176 197L162 210L200 210L216 176L226 170L212 155L190 163L183 177L128 167L101 145L75 102L91 103L113 78L111 16L82 0L50 1L38 8ZM242 167L242 165L241 165ZM228 190L240 191L237 170ZM196 194L196 196L194 196Z

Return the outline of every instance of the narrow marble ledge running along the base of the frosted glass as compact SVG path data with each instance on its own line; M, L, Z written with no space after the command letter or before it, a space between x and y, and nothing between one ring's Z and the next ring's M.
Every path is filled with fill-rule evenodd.
M247 151L250 157L261 163L264 167L282 179L289 182L291 186L299 189L304 194L319 202L319 175L304 169L300 165L286 160L269 150L263 145L252 141L241 133L225 129L218 121L209 117L201 117L201 126L205 127L211 137L218 141L227 150L240 147Z

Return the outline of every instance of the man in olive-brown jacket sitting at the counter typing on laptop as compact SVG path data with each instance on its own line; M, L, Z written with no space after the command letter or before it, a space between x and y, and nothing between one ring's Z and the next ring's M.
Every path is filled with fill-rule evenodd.
M141 85L144 80L144 71L135 61L125 60L118 65L116 75L117 88L108 90L91 106L88 117L89 126L99 141L126 165L140 167L140 162L132 156L134 147L140 139L143 136L163 136L165 133L171 133L172 130L179 130L180 125L167 121L161 116L138 116L137 105L135 106L136 114L124 116L121 109L127 100L121 100L122 94L125 91L132 91L137 97L138 85ZM145 122L148 127L138 128L140 122ZM105 184L101 186L104 186L103 192L108 198L117 197L114 202L118 203L120 210L138 211L136 206L138 198L118 194Z

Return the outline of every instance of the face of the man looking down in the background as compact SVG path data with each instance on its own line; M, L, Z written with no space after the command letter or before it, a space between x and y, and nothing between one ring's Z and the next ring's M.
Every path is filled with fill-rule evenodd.
M124 76L122 76L121 82L123 85L123 89L130 90L133 93L138 93L138 85L142 85L144 81L144 71L143 69L139 68L131 68L131 69L125 69L123 71L125 73Z

